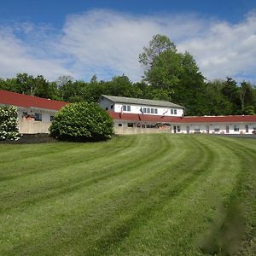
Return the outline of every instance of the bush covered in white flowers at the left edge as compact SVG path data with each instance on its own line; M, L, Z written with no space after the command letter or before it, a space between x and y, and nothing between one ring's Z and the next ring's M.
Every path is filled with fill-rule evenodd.
M0 107L0 140L18 140L18 111L14 106Z

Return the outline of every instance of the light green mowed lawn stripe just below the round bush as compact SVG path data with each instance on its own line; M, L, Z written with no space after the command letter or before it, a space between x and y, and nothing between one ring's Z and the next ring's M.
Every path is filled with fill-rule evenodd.
M13 160L4 160L4 154L1 154L3 162L0 165L0 181L30 175L33 172L38 173L39 170L46 172L55 170L55 167L61 168L63 166L84 163L84 158L86 161L96 160L96 158L101 158L102 154L108 158L108 156L118 152L120 148L131 148L131 144L134 142L135 137L130 137L130 139L122 142L119 142L119 138L115 138L114 143L116 147L110 148L108 148L108 143L98 143L96 146L93 143L88 143L84 144L84 147L83 144L78 143L57 143L54 148L49 144L47 146L44 145L44 150L37 150L37 152L31 150L32 154L28 154L28 156L26 154L23 155L23 150L25 149L26 152L27 148L20 148L19 152L15 152L15 162ZM67 145L70 145L70 148L67 148ZM32 147L32 145L29 146ZM40 146L39 148L41 148ZM26 147L28 146L26 145ZM45 148L48 148L48 150ZM102 152L102 154L98 154L98 152ZM35 168L38 165L40 165L39 170ZM17 166L20 166L20 169ZM12 170L15 170L15 173ZM17 172L18 170L20 172Z

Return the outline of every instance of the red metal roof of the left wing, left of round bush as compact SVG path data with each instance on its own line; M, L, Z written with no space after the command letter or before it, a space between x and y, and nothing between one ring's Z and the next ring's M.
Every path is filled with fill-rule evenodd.
M25 108L34 107L59 110L67 105L67 102L54 101L37 96L28 96L8 90L0 90L0 104Z

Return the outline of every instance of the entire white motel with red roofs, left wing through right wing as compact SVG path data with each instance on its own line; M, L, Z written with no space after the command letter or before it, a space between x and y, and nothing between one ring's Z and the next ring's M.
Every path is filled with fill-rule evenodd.
M256 115L189 117L172 102L105 95L99 104L112 117L116 134L256 134ZM35 134L49 133L55 113L67 102L0 90L0 106L9 105L18 108L20 133Z

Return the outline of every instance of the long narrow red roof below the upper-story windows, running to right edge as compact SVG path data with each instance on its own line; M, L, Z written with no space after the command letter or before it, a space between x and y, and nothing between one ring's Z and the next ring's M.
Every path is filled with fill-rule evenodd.
M113 119L127 120L134 122L154 122L154 123L241 123L256 122L256 115L226 115L226 116L185 116L170 117L151 114L137 113L114 113L108 112Z

